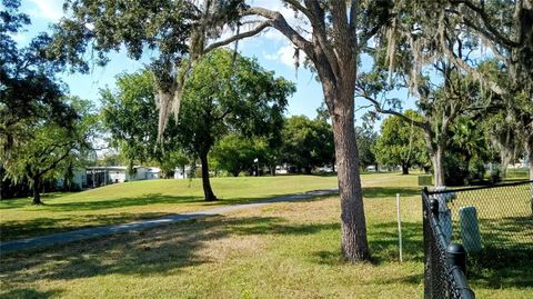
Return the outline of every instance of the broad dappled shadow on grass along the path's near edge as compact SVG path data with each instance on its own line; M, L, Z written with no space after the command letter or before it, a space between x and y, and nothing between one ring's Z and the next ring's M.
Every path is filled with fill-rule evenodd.
M109 273L174 273L183 267L213 262L213 257L205 255L204 250L208 247L217 250L217 242L230 236L304 236L339 229L338 223L293 226L283 222L276 217L214 216L159 229L73 242L68 247L8 253L2 255L0 276L11 282L29 283L41 279L70 280ZM249 246L249 250L254 252L253 245ZM228 250L227 247L220 250ZM233 250L231 253L234 253ZM224 256L219 251L215 255Z

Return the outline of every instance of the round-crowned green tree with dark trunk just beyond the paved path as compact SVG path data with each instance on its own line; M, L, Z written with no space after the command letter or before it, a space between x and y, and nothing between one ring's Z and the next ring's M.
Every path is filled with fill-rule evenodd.
M278 137L286 97L294 90L293 83L229 50L214 50L198 61L183 90L178 140L202 163L207 200L217 199L209 183L212 147L230 132Z

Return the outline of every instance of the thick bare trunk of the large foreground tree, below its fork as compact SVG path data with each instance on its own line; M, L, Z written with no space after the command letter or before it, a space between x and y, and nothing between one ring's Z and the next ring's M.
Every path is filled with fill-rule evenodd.
M343 93L350 93L345 90ZM328 94L328 92L324 92ZM342 94L350 97L350 94ZM341 198L342 253L350 261L370 260L366 241L363 195L359 169L359 151L355 143L353 96L344 99L345 107L332 113L335 142L339 195ZM339 104L339 101L335 103Z

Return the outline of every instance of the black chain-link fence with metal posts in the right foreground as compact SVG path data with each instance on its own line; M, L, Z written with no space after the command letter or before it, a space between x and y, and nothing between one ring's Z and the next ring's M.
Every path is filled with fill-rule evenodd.
M465 257L494 261L533 253L533 181L424 190L424 297L474 298ZM497 252L497 255L494 255Z

